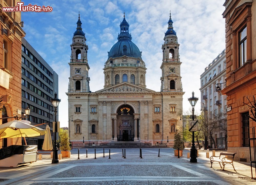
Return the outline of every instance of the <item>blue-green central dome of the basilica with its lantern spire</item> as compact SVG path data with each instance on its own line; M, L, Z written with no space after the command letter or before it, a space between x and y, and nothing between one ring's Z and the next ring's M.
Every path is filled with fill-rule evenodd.
M127 57L141 58L141 52L139 48L131 41L132 36L129 33L129 24L125 20L120 23L120 34L118 34L118 42L115 43L110 52L108 52L109 58L117 58L126 55ZM142 59L142 58L141 58Z

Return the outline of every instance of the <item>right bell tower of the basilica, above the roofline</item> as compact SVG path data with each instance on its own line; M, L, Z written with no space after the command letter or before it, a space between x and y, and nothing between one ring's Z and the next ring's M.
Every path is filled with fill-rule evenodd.
M176 32L173 29L173 21L168 21L168 29L165 32L163 50L163 62L161 65L162 77L161 92L182 92L182 82L180 76L179 43Z

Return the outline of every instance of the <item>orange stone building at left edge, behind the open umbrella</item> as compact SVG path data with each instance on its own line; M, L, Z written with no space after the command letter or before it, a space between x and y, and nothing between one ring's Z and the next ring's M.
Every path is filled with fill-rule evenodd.
M2 11L2 7L13 7L17 2L0 0L0 118L21 116L21 38L25 32L20 12ZM13 119L0 119L0 124ZM21 145L21 138L0 138L0 148L13 144Z

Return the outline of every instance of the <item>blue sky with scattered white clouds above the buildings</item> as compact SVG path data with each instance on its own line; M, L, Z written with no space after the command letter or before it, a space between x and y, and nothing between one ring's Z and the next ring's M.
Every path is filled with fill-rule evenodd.
M142 51L146 64L148 89L160 91L162 44L167 31L169 11L177 33L183 91L183 110L191 109L187 98L199 97L195 110L200 110L200 75L225 49L225 10L223 0L40 0L24 1L24 5L51 6L52 12L22 12L25 39L59 75L59 121L68 127L68 77L70 44L76 31L78 11L86 36L90 90L103 89L104 63L108 51L118 41L120 21L129 21L132 42Z

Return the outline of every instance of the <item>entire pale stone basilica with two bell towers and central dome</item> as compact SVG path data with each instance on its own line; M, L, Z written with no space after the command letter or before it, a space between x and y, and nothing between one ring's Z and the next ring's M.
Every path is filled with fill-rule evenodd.
M171 15L162 45L160 92L146 88L146 62L132 42L125 15L118 41L108 52L103 68L104 87L91 92L88 46L81 25L79 15L70 45L70 77L66 93L73 145L116 141L167 143L167 137L168 144L172 145L175 132L182 129L179 112L182 111L184 92L179 44Z

